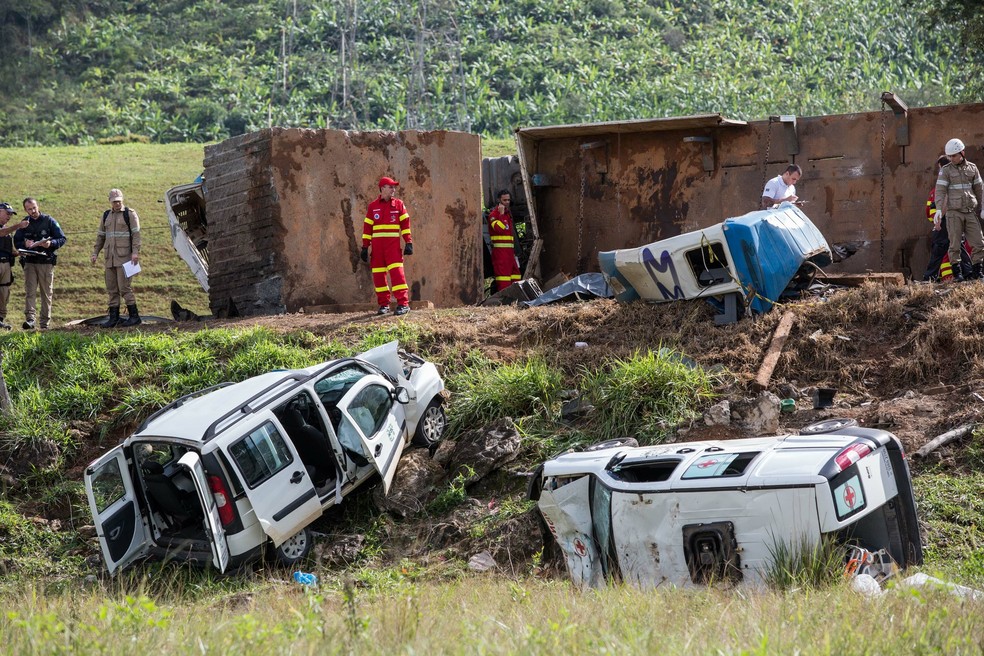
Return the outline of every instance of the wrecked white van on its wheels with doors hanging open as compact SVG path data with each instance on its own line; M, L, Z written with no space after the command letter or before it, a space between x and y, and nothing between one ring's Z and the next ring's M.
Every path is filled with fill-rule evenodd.
M388 491L409 441L441 439L443 394L433 363L390 342L177 399L86 468L107 568L297 562L325 508L376 474Z

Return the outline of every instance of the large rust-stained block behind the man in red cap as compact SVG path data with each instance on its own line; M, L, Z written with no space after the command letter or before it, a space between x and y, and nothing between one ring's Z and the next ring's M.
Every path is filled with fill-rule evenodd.
M396 196L411 217L412 297L476 302L480 159L477 135L450 132L274 128L206 148L210 282L220 283L210 304L257 314L374 302L359 251L382 175L401 181ZM438 208L452 206L453 219L442 220Z

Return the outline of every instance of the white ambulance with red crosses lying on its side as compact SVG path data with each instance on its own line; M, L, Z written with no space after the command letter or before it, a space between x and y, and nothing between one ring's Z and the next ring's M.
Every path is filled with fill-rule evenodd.
M603 443L544 463L530 496L582 587L764 586L776 554L823 538L884 549L901 568L922 563L898 439L836 421L801 433Z

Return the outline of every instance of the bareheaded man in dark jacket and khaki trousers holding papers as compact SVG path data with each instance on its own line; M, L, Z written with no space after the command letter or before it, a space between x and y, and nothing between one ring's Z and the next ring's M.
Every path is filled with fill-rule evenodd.
M40 328L47 330L51 322L51 299L55 292L55 254L68 239L58 221L42 214L38 200L30 196L24 199L27 226L14 233L17 248L24 266L24 330L34 330L37 312L37 294L41 292ZM27 251L27 252L24 252Z

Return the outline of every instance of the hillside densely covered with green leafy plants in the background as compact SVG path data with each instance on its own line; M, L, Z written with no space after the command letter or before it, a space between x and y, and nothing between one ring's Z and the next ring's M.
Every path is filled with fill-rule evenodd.
M268 125L460 129L972 98L980 57L888 0L0 0L0 145ZM977 60L977 64L973 63Z

